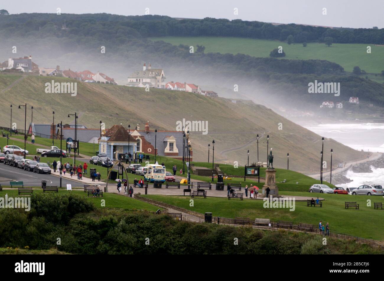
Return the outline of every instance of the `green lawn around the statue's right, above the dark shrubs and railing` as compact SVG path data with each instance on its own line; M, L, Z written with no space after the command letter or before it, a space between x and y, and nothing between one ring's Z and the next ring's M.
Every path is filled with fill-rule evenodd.
M226 192L226 191L223 191ZM209 194L209 192L208 192ZM308 192L280 192L281 195L311 196ZM317 196L313 195L313 196ZM325 200L322 208L307 207L306 202L295 202L295 211L289 209L266 209L262 200L244 199L228 200L221 197L195 198L194 207L190 207L189 196L142 195L154 200L176 205L199 213L212 212L219 217L266 218L273 221L288 220L294 223L311 223L318 225L329 222L331 230L363 238L384 240L384 225L381 223L384 210L374 210L373 202L383 202L379 196L351 196L341 194L321 194ZM372 207L367 207L367 199L372 200ZM344 202L353 201L360 204L360 210L345 209Z

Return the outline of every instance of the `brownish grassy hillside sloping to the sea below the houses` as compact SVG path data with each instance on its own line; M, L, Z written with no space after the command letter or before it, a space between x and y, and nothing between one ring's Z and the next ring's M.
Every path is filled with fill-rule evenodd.
M0 76L1 77L1 76ZM1 83L9 85L13 76L6 76ZM231 100L212 99L187 92L144 88L89 84L78 82L76 97L70 94L46 94L47 77L25 77L10 89L0 92L0 98L14 105L12 122L18 128L24 127L24 110L16 105L27 102L27 123L30 122L30 106L33 106L35 123L51 122L55 111L55 122L73 122L69 113L77 112L78 123L88 128L98 128L99 120L109 128L122 123L144 128L149 121L154 130L176 130L176 122L183 118L194 121L208 121L208 134L191 132L190 140L194 149L194 161L207 161L208 144L215 140L215 162L232 164L238 161L241 166L247 161L250 150L250 163L257 161L256 134L260 135L259 160L266 161L266 135L270 136L269 148L273 148L274 166L286 168L286 154L290 153L290 169L313 173L318 171L321 136L290 122L272 110L252 102L234 104ZM71 79L55 77L55 82L73 82ZM1 84L0 84L1 87ZM9 126L9 104L0 105L0 125ZM281 126L279 126L281 123ZM281 130L279 130L279 127ZM154 140L148 140L154 141ZM364 154L334 140L324 141L324 151L333 148L333 163L364 158ZM28 148L27 148L28 149ZM230 150L228 150L230 149ZM329 159L328 159L329 158ZM325 153L325 161L330 161L330 153ZM212 161L212 160L211 160ZM329 167L329 165L328 165Z

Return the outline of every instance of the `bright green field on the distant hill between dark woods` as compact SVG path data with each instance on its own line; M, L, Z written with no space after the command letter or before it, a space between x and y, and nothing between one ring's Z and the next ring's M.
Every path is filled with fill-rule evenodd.
M259 58L268 58L269 53L282 46L286 53L285 59L325 59L340 64L345 71L351 72L354 66L369 73L380 73L384 70L384 46L374 44L332 44L308 43L288 45L286 42L264 39L237 37L154 37L152 41L164 41L174 45L203 45L205 53L247 54ZM367 46L371 46L371 54L367 54ZM380 78L377 78L380 79ZM384 80L384 78L381 78Z

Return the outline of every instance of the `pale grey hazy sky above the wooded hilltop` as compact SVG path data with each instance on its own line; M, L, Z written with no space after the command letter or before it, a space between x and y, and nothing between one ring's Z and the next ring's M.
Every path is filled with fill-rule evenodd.
M13 0L0 3L0 9L17 13L111 13L180 18L227 18L275 23L384 28L384 0ZM234 15L238 8L238 15ZM327 15L323 15L326 8Z

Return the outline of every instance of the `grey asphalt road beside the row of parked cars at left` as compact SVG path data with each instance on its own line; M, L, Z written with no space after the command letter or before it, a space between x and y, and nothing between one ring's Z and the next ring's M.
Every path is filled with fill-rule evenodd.
M12 179L12 181L23 181L24 186L41 186L41 181L47 181L48 186L60 186L60 177L50 174L37 174L33 172L24 171L16 167L4 165L0 163L0 178ZM10 180L0 181L2 186L8 186ZM71 184L72 187L82 187L81 182L72 181L70 179L62 179L61 186Z

